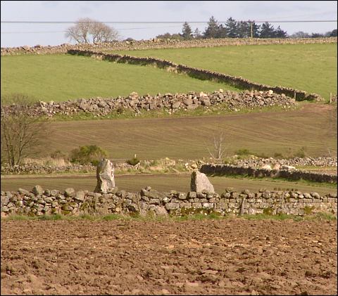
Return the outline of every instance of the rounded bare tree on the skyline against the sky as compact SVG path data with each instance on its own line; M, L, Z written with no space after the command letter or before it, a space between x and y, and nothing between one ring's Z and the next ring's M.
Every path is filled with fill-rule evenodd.
M90 18L80 18L76 25L69 27L65 32L65 37L77 43L99 43L110 42L118 39L118 31L109 27L103 22L98 22Z

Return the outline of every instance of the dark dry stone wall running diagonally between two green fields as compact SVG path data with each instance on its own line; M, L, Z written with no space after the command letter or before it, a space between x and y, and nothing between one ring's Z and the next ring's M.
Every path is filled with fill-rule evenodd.
M160 58L137 57L127 55L123 56L120 54L108 54L100 51L80 51L75 49L70 49L68 53L80 56L90 56L92 58L99 58L101 60L108 60L116 63L131 63L136 65L156 65L156 67L165 68L173 72L184 73L197 79L212 80L220 83L232 84L233 86L237 86L240 89L273 91L275 94L283 94L295 98L296 101L303 100L323 101L323 98L318 94L308 94L306 91L292 89L289 87L269 86L266 84L259 84L256 82L251 82L250 80L242 77L235 77L223 73L199 69L196 67L189 67L187 65L176 64L170 62L169 60L161 60Z

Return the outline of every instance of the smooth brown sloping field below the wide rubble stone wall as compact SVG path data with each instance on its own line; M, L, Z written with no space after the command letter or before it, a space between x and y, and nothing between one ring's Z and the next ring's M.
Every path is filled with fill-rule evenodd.
M337 121L332 105L301 103L295 111L250 112L199 117L51 122L44 154L68 153L84 145L98 145L113 159L199 159L209 157L213 134L223 131L226 151L287 155L304 147L313 157L337 155ZM336 111L337 112L337 111ZM331 113L332 114L332 113ZM332 117L330 119L330 117ZM331 120L331 122L330 122Z

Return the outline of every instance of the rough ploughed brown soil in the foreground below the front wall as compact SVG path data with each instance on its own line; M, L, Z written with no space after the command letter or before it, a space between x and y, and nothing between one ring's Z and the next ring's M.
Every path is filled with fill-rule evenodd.
M1 295L337 295L337 221L1 221Z

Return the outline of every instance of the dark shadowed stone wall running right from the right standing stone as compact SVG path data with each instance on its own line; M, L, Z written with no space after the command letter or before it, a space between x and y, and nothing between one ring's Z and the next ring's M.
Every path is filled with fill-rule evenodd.
M313 172L304 172L298 169L258 169L254 167L237 167L234 165L202 165L200 171L207 175L226 176L226 175L244 175L254 177L284 178L288 180L307 180L313 182L337 183L337 174L318 174Z

